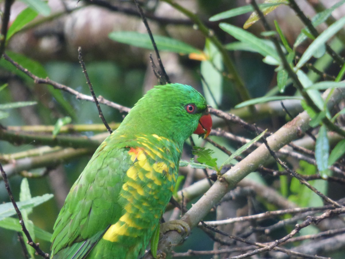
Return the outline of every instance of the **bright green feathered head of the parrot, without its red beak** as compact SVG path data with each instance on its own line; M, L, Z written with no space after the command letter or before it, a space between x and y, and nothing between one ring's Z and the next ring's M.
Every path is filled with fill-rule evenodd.
M194 107L193 112L187 111L190 104ZM182 144L206 112L205 98L193 87L159 85L136 103L117 131L124 131L126 135L157 134Z

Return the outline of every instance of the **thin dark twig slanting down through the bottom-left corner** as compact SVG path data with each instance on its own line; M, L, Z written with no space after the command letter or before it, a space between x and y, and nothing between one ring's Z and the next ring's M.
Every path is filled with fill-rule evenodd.
M2 179L3 179L4 183L5 183L5 188L6 188L6 190L7 190L8 196L10 197L10 200L11 200L11 202L12 202L12 204L13 204L13 207L14 207L14 209L15 209L16 212L17 212L17 215L18 215L18 218L19 218L19 224L21 225L22 231L24 232L25 236L26 236L27 239L28 239L28 244L29 244L30 246L32 246L32 247L36 250L36 252L38 253L38 255L40 255L41 257L43 257L43 258L45 258L45 259L49 259L49 254L43 252L43 251L39 248L39 244L38 244L38 243L33 242L32 238L31 238L31 236L30 236L30 233L29 233L29 231L27 230L27 228L26 228L26 226L25 226L23 217L22 217L21 212L20 212L20 210L19 210L19 208L18 208L18 206L17 206L17 203L16 203L16 201L14 200L14 197L13 197L13 194L12 194L12 191L11 191L11 188L10 188L10 184L9 184L9 182L8 182L8 180L7 180L7 175L6 175L5 171L3 170L1 163L0 163L0 171L1 171L1 174L2 174Z

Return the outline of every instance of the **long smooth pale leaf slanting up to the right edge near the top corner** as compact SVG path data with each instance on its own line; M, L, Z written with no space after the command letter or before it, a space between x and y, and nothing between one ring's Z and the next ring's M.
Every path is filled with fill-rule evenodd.
M309 47L304 51L302 57L299 59L295 69L303 67L303 65L313 56L314 52L324 45L335 33L342 29L345 25L345 16L334 22L326 30L324 30Z

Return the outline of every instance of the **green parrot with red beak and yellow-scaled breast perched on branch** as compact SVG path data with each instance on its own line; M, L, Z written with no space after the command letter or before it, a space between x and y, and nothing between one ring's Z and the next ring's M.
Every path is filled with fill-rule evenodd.
M97 148L67 195L52 258L138 258L174 190L185 140L207 136L205 98L182 84L155 86Z

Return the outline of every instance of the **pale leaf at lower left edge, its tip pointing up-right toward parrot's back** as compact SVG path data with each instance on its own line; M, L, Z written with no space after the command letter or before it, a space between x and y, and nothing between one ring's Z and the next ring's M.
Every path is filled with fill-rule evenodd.
M23 209L28 209L28 208L33 208L38 205L40 205L43 202L46 202L53 198L53 194L43 194L42 196L36 196L33 197L27 201L19 201L17 202L17 206L19 210ZM0 204L0 220L11 217L13 215L17 214L16 211L14 210L14 207L12 205L12 202L7 202L7 203L2 203Z

